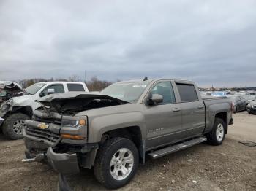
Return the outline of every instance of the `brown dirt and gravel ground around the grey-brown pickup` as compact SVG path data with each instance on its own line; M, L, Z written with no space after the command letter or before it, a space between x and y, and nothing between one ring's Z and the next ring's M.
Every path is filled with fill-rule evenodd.
M234 114L234 125L219 147L199 144L181 152L148 160L121 190L256 190L256 115ZM56 190L57 174L40 163L24 164L23 140L0 136L0 190ZM83 171L68 177L74 190L105 190Z

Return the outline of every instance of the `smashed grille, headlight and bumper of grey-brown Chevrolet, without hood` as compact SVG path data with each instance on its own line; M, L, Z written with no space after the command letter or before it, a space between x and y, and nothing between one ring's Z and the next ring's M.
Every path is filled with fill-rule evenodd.
M91 168L98 144L87 143L87 117L69 116L38 109L26 121L24 163L47 162L61 174Z

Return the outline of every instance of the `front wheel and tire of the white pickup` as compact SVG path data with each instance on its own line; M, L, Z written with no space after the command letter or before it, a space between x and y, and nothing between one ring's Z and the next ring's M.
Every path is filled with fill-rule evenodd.
M4 136L9 139L22 139L23 127L25 126L25 120L29 120L29 116L22 113L11 114L4 120L2 130Z

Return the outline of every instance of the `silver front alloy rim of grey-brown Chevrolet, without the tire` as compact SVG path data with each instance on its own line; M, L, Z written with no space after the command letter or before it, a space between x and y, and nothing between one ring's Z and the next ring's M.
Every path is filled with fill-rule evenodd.
M110 161L110 174L113 179L124 180L132 172L134 157L127 148L118 149Z

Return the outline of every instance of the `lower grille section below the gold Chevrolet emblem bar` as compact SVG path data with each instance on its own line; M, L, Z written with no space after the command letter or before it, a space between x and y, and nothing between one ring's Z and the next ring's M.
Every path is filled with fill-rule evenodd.
M56 144L60 139L60 136L58 134L52 133L49 130L45 130L45 129L42 130L39 128L31 128L29 126L26 127L26 134L28 136L36 137L37 139L40 139L40 140L48 141L48 142L50 142L50 144Z

